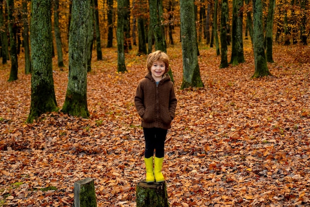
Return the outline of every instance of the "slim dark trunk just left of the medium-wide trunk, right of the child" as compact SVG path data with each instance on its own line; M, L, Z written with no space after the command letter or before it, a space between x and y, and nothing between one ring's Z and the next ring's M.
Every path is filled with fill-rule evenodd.
M227 20L228 20L228 0L222 0L221 6L221 64L220 68L228 67L227 60Z

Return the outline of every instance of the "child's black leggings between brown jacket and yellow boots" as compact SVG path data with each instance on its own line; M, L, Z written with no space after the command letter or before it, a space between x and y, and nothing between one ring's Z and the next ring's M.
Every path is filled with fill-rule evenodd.
M145 158L152 157L154 155L154 150L156 157L163 157L167 131L167 129L161 128L143 128L145 139Z

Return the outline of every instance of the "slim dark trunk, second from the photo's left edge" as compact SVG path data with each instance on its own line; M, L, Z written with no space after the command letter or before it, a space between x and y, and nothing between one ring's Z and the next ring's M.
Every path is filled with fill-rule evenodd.
M7 20L8 30L10 33L10 56L11 56L11 71L8 81L17 80L18 62L17 62L17 48L16 48L16 25L14 19L14 0L6 0L7 4Z

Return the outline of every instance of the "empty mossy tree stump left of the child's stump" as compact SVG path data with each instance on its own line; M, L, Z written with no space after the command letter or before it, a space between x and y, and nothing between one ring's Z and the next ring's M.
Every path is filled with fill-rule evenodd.
M92 178L74 183L74 207L97 207L95 184Z

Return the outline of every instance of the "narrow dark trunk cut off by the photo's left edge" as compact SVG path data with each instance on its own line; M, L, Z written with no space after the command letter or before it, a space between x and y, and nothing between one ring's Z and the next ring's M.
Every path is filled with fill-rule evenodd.
M4 14L3 14L3 0L0 0L0 28L3 28L0 30L1 34L1 52L2 52L2 64L6 64L7 60L9 58L8 56L8 41L7 41L7 27L6 23L4 23Z

